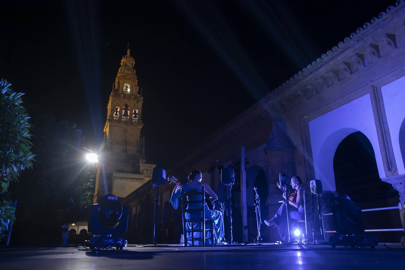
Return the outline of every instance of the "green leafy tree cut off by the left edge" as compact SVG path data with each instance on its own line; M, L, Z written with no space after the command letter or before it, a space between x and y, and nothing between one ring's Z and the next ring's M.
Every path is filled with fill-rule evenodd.
M30 151L30 117L21 106L23 93L14 92L10 86L11 83L0 80L0 236L15 220L9 185L18 181L22 170L32 168L35 156Z

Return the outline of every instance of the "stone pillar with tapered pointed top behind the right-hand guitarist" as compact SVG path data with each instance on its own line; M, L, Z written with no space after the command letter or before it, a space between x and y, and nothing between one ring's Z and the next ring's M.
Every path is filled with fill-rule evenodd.
M281 205L279 201L283 200L282 191L276 186L279 173L288 172L290 177L295 175L294 149L294 144L286 132L284 122L273 121L270 138L264 148L269 168L269 196L266 200L269 216L262 217L263 219L271 219ZM268 229L261 230L264 237L270 241L280 240L277 228L270 229L264 223L263 227Z

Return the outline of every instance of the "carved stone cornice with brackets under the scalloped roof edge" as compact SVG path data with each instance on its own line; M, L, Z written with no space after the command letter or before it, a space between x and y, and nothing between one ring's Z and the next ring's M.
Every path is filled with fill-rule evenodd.
M401 17L404 16L401 12L404 10L403 0L397 1L395 6L389 6L378 18L371 19L371 23L364 23L356 33L350 34L350 37L346 37L332 50L298 71L259 102L271 104L270 107L275 111L281 109L281 114L286 113L325 89L350 78L375 60L383 58L397 49L398 40L404 38L402 26L396 27L396 32L390 28L392 23L403 23L404 18Z

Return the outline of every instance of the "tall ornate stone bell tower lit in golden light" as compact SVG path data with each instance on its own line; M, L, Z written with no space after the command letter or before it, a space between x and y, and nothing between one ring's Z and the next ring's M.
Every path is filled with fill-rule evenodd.
M141 137L143 97L134 65L128 46L107 104L94 203L107 193L121 198L128 196L151 179L156 166L145 163L145 140Z

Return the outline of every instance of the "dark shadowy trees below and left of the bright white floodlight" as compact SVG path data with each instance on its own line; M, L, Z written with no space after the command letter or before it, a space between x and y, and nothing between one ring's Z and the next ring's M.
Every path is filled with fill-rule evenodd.
M93 176L78 147L83 138L75 123L58 121L35 104L28 106L28 112L37 156L34 168L10 187L19 202L12 240L14 244L60 244L63 223L87 220Z

